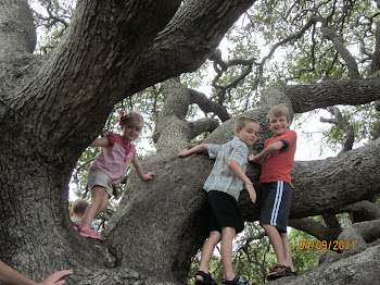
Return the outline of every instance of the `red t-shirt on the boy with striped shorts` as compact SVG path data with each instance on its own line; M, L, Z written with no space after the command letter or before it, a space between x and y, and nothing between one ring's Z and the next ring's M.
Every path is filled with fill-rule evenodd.
M259 183L270 183L277 181L288 182L293 188L290 173L294 164L294 153L296 149L296 133L288 131L281 136L271 137L264 144L266 148L273 142L281 140L284 146L280 150L266 157L262 165L262 176Z

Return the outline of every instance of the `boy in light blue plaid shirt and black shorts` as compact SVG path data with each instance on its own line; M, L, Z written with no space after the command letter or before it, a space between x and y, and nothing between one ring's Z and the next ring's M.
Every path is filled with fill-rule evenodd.
M232 240L244 228L244 219L241 214L238 199L244 185L254 203L256 191L251 179L245 175L249 148L257 140L259 124L250 116L239 116L235 122L235 137L224 145L203 144L185 149L178 157L187 157L197 152L208 151L215 159L203 188L207 191L210 236L201 251L199 271L195 273L195 284L215 285L216 282L208 272L208 263L214 248L221 240L220 253L223 264L223 284L251 284L241 281L232 269Z

